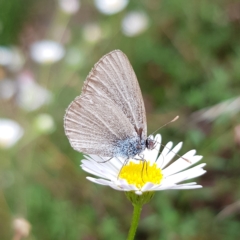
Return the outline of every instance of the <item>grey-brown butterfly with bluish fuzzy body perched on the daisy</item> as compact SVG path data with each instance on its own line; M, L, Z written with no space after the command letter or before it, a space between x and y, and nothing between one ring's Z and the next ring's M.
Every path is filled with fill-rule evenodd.
M66 110L64 129L71 146L85 154L129 159L154 148L138 80L122 51L94 65Z

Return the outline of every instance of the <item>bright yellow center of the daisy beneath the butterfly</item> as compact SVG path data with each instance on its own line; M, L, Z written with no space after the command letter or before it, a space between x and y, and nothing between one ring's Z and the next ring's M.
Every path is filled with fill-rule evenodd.
M156 163L150 165L147 161L129 161L122 167L119 178L125 179L128 184L133 184L141 189L147 182L159 184L163 174Z

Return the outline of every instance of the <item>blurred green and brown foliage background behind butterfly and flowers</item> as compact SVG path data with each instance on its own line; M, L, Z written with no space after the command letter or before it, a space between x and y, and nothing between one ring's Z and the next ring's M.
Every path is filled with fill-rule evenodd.
M136 239L239 239L240 151L234 138L239 114L223 114L213 122L198 124L190 117L239 96L237 9L237 0L141 0L106 16L93 1L85 0L77 14L68 16L56 1L0 0L1 45L15 44L27 55L32 40L48 38L81 55L81 64L76 66L64 60L40 66L27 58L25 67L54 93L50 105L25 112L14 101L1 102L0 115L19 122L25 135L13 148L0 151L0 179L11 180L7 187L0 185L0 239L12 239L12 220L18 216L32 226L28 240L126 239L130 202L122 192L85 179L87 174L79 167L83 156L70 147L63 130L65 109L80 94L94 63L113 49L125 52L136 72L147 108L148 132L179 115L179 121L161 129L163 141L183 141L180 154L197 149L208 171L196 180L203 189L156 193L143 209ZM131 10L144 11L150 20L149 28L132 38L121 32L121 20ZM95 43L83 38L83 27L91 22L99 24L104 36ZM57 27L63 30L56 37ZM65 41L68 34L71 38ZM53 133L34 129L39 113L53 116ZM235 208L219 218L231 204Z

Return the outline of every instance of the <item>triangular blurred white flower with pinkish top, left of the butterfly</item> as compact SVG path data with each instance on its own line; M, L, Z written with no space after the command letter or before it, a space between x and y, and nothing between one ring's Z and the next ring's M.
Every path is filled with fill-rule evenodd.
M26 111L34 111L52 99L51 92L38 85L30 73L20 74L18 84L17 104Z

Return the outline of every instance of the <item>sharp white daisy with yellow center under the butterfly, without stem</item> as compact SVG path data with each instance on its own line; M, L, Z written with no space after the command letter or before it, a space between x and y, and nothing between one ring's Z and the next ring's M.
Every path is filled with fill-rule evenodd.
M160 154L160 134L156 135L155 142L154 149L146 149L141 153L141 159L144 161L129 159L125 164L126 161L118 157L103 163L107 158L103 160L96 155L90 155L85 156L86 159L82 160L81 167L84 171L99 177L87 177L88 180L119 191L133 191L137 195L149 191L202 187L196 182L179 184L206 172L203 169L205 163L192 167L202 159L202 156L195 155L196 150L188 151L169 164L181 149L182 142L174 148L172 148L173 143L168 142Z

